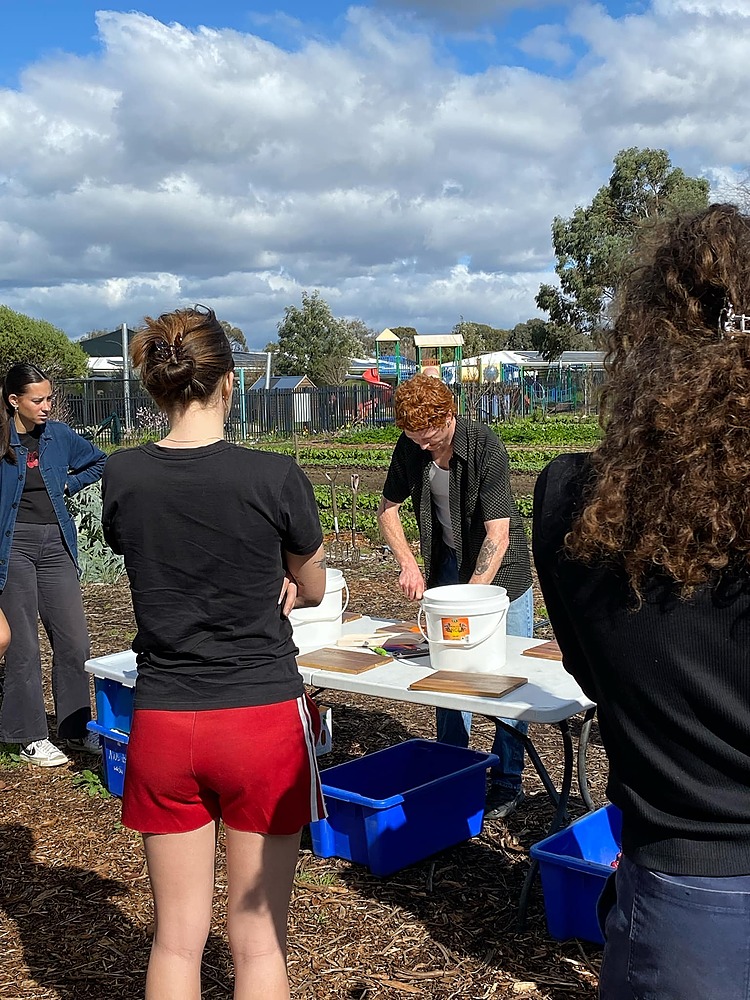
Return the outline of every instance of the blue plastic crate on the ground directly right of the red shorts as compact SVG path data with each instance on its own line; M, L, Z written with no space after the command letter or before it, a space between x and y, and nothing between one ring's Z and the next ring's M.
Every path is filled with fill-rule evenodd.
M485 772L498 758L407 740L321 773L328 818L310 824L320 858L347 858L380 877L475 837Z

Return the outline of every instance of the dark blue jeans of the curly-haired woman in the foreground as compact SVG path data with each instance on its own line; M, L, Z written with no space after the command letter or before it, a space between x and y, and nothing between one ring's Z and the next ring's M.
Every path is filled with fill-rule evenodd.
M750 1000L750 875L664 875L620 859L600 1000Z

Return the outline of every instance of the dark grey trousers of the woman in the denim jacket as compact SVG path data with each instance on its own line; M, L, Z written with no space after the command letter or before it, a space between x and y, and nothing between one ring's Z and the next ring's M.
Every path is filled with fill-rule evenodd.
M5 654L0 742L26 745L48 735L39 624L52 646L52 696L60 739L80 739L91 719L83 669L89 636L81 587L57 524L16 523L8 581L0 594L11 640Z

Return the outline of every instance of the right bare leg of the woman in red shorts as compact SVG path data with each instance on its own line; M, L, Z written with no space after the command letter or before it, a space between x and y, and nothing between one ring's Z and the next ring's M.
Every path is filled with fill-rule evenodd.
M300 834L226 834L235 1000L289 1000L286 924Z

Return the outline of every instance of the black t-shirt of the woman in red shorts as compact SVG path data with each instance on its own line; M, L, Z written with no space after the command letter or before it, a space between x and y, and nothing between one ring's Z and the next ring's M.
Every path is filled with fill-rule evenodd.
M282 549L322 542L309 480L286 456L220 441L110 456L108 543L125 557L138 632L136 707L274 704L303 691L278 604Z

